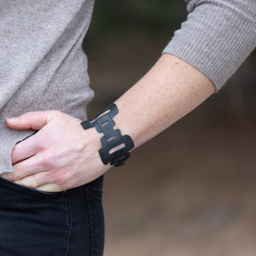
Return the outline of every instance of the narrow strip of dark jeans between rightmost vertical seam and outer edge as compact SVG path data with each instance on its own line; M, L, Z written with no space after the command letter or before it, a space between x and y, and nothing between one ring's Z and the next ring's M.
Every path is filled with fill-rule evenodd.
M104 248L102 189L92 187L84 189L90 215L91 256L102 256Z

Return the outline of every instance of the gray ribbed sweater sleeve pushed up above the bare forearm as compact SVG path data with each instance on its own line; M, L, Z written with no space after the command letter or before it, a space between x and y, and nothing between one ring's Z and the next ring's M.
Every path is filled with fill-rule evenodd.
M163 53L205 73L219 90L256 46L256 0L190 0Z

